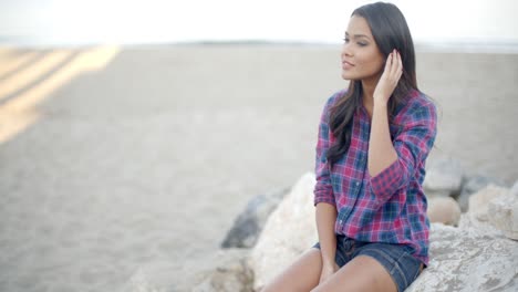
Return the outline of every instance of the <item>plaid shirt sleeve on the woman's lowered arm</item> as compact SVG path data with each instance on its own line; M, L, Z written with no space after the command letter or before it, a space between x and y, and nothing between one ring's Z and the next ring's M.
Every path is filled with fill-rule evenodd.
M333 188L331 185L330 170L328 164L328 150L330 147L329 109L335 96L331 96L325 103L320 117L319 136L317 142L317 158L314 173L317 185L314 186L314 206L319 202L328 202L336 206L334 201Z

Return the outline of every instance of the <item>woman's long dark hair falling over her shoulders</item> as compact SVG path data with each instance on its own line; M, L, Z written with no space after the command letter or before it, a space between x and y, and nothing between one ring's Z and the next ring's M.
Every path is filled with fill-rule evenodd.
M405 102L408 92L417 90L415 75L414 42L400 9L391 3L376 2L358 8L351 17L362 17L371 28L374 41L384 59L396 49L403 62L403 75L388 100L388 121L395 115L398 104ZM351 132L354 112L362 106L362 82L351 80L349 90L330 109L330 127L335 143L328 152L328 161L332 167L348 153L351 145Z

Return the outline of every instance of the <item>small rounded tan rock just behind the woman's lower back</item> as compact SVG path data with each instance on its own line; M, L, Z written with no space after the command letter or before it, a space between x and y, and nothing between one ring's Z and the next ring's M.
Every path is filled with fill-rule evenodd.
M428 198L427 215L431 222L456 226L460 219L460 207L450 197L432 197Z

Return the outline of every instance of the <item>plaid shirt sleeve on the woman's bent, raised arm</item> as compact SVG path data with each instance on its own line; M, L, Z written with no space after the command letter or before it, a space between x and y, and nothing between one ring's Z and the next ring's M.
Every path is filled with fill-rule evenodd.
M371 189L382 201L408 185L415 177L416 167L426 159L435 142L437 115L434 104L422 105L407 115L403 119L403 129L393 140L397 159L370 177Z

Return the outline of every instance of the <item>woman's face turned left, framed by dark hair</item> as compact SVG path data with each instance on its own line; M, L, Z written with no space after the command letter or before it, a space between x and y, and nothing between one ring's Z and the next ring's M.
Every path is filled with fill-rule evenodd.
M342 48L342 77L344 80L377 80L385 58L374 42L369 23L362 17L351 17Z

